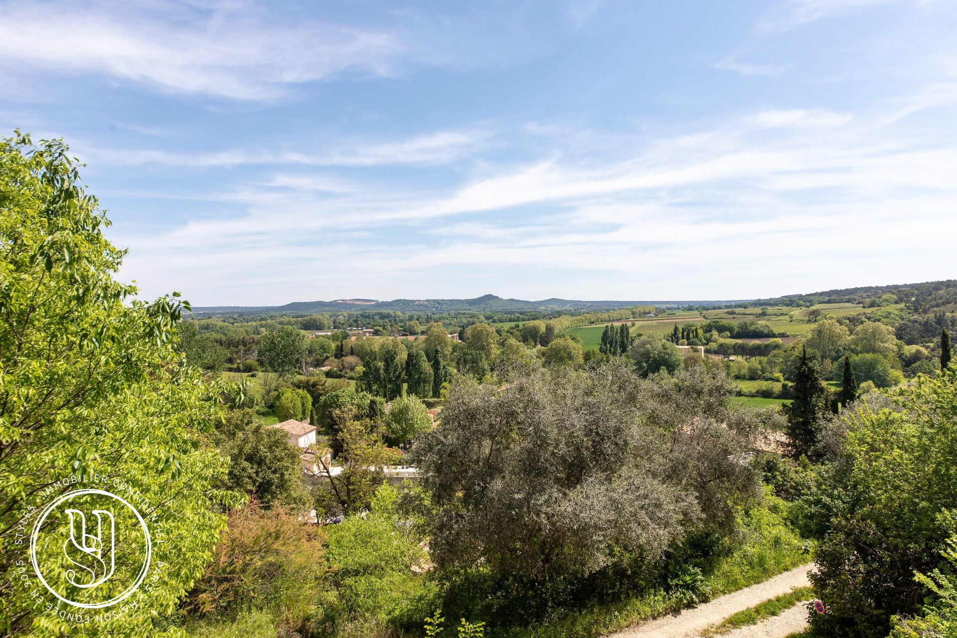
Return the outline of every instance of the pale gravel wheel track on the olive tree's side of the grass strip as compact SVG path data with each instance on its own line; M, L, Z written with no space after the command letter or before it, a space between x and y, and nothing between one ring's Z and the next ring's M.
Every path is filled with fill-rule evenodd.
M716 598L710 603L684 609L676 615L657 618L623 629L610 634L608 638L693 638L703 629L722 622L733 613L764 603L781 594L787 594L794 587L805 587L811 584L808 580L808 572L813 566L813 563L809 562L791 569L790 572L778 574L764 583L752 584L750 587ZM795 631L800 628L798 627ZM777 634L768 634L770 635Z

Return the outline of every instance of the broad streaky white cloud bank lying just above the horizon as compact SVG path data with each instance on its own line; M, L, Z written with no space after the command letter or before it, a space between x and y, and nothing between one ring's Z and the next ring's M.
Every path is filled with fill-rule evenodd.
M622 285L639 297L675 297L676 285L698 293L693 297L719 296L693 277L681 283L706 272L708 280L734 282L723 285L723 297L753 297L873 281L887 270L887 254L896 255L901 280L919 280L931 274L915 251L945 250L957 231L957 152L888 124L892 108L855 117L757 111L649 140L620 161L555 155L500 166L444 194L277 176L236 193L248 213L228 222L195 220L160 236L126 236L136 249L129 267L141 276L161 269L165 280L182 275L207 291L192 296L204 304L236 298L214 285L229 279L223 264L236 253L251 277L246 284L267 287L264 298L276 303L391 298L410 280L420 295L433 287L441 296L435 273L456 276L462 295L481 294L489 277L514 281L523 271L537 275L495 292L567 295L541 274L578 272L595 282L582 297L634 297ZM928 227L940 232L919 230ZM355 233L366 238L357 243ZM834 259L809 257L822 253L845 255L848 278L835 282ZM763 269L747 267L754 263L781 265L773 286ZM788 266L797 263L801 269ZM320 271L317 287L309 274ZM477 272L486 283L472 289Z

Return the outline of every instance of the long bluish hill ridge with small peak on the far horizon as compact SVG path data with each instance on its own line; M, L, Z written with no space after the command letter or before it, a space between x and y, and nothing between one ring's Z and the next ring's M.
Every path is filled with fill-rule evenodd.
M600 300L584 301L577 299L549 298L540 301L502 298L496 295L482 295L472 299L335 299L332 301L293 301L282 306L194 306L196 315L308 315L312 313L335 313L391 310L403 313L444 313L456 311L490 312L521 310L598 310L627 308L629 306L656 305L670 308L688 304L710 306L735 303L739 300Z

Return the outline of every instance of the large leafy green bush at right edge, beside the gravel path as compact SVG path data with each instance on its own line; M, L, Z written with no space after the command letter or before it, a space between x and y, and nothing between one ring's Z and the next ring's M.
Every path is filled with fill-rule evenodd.
M814 614L816 635L886 636L893 614L917 613L931 593L914 575L945 566L957 522L957 370L886 395L883 409L849 410L837 471L822 486L835 499L815 552L812 582L828 609Z

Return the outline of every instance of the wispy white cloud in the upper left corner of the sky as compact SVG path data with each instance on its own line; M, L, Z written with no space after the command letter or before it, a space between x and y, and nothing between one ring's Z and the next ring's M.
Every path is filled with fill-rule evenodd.
M319 21L269 24L231 9L6 2L0 59L103 74L171 93L273 99L346 72L390 77L412 51L396 33ZM258 16L263 17L263 16Z

